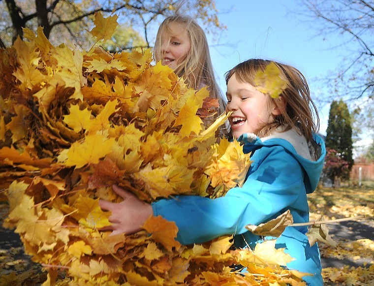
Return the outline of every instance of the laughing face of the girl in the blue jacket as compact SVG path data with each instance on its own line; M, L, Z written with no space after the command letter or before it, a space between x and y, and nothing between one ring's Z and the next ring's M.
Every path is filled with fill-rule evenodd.
M247 82L238 81L235 73L227 83L226 95L226 113L233 111L228 120L234 138L244 133L257 135L262 127L273 122L272 115L279 114L278 108L270 107L269 95L259 92Z

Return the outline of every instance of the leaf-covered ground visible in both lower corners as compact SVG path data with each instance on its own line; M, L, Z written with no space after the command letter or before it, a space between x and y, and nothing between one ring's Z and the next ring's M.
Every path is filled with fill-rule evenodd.
M338 247L319 244L324 285L373 285L374 188L320 188L309 195L309 200L311 220L320 214L325 220L366 217L365 220L328 224ZM7 204L2 201L1 224L6 213ZM18 235L0 227L0 277L9 274L20 275L19 281L28 281L26 285L37 285L46 279L41 267L24 254Z

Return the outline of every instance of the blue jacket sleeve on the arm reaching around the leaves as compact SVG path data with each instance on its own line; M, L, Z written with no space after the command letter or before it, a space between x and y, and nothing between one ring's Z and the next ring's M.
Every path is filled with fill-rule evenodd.
M154 215L178 226L182 244L203 243L221 235L241 234L247 224L266 222L306 197L303 169L280 146L262 147L252 156L248 178L242 188L209 199L181 195L152 204ZM305 198L306 201L306 198ZM308 211L308 205L306 206Z

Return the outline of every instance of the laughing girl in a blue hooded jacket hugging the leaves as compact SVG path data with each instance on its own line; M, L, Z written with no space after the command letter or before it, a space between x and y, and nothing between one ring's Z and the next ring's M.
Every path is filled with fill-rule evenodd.
M114 186L124 197L121 203L101 201L110 210L113 233L140 230L150 216L162 216L178 226L182 244L203 243L221 235L234 235L238 248L253 248L262 240L249 232L247 224L260 224L290 210L294 222L309 222L307 193L315 190L325 157L323 140L315 134L317 110L304 76L296 68L275 63L287 83L278 98L263 94L255 87L257 71L271 61L248 60L226 74L227 107L232 135L251 152L252 163L243 187L233 188L223 197L209 199L181 195L144 203L133 194ZM316 123L313 121L313 112ZM318 246L309 245L307 226L288 226L277 239L276 247L285 248L295 260L290 269L312 274L304 276L308 285L322 285Z

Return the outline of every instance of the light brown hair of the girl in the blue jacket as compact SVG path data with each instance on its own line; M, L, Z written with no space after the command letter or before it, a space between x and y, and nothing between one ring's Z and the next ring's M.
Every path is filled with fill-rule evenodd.
M254 79L257 71L265 71L266 66L272 62L274 61L250 59L240 63L226 72L226 84L235 73L238 81L256 87ZM259 137L268 136L278 127L288 126L283 131L294 128L307 140L312 140L313 133L317 132L319 128L319 117L309 92L307 80L295 67L278 62L274 63L279 67L280 78L286 82L286 88L280 94L284 101L280 97L268 96L268 102L280 108L281 114L275 116L274 121L265 125L257 135ZM285 102L285 105L282 102Z

